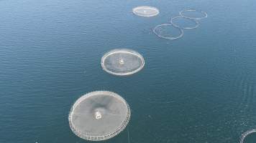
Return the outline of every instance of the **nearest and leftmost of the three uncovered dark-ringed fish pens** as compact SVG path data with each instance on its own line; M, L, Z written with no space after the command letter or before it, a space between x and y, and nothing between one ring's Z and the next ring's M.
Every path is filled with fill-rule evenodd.
M165 29L168 29L168 28L174 28L176 30L179 31L179 34L177 36L173 36L171 34L164 34L165 33ZM174 40L174 39L179 39L183 36L184 32L183 32L183 29L180 29L179 27L177 26L173 26L173 24L160 24L160 25L157 25L155 26L155 28L153 29L153 32L159 36L160 38L163 38L163 39L170 39L170 40Z

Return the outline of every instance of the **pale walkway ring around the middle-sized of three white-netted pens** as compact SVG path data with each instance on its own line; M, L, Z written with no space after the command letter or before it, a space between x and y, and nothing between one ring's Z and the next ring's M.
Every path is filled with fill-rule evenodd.
M124 72L124 73L117 73L117 72L110 71L109 69L107 69L106 66L104 65L104 62L105 62L106 58L108 56L111 56L112 54L118 54L118 53L132 54L134 56L137 56L142 61L142 64L140 65L140 68L135 69L134 71ZM122 64L122 61L121 62L119 61L119 64ZM128 75L131 75L131 74L135 74L136 72L143 69L143 67L145 66L145 60L144 60L144 58L141 54L139 54L137 51L134 51L132 49L113 49L113 50L107 52L106 54L104 54L104 56L102 56L101 66L104 69L104 71L108 72L109 74L114 74L114 75L117 75L117 76L128 76Z

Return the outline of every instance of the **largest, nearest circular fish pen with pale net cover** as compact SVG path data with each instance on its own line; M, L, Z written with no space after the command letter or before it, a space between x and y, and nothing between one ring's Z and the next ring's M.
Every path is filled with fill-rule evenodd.
M97 91L83 95L70 109L70 129L91 141L110 139L122 132L131 111L127 102L114 92Z

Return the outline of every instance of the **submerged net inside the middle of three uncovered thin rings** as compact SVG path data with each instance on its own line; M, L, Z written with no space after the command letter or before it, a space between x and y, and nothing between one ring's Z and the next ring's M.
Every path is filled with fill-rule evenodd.
M177 24L177 21L183 20L187 21L188 23L193 23L192 26L182 26L181 24ZM199 22L196 19L190 19L183 16L175 16L172 19L170 19L170 24L173 24L173 26L177 26L180 29L196 29L199 26ZM189 24L191 25L191 24Z

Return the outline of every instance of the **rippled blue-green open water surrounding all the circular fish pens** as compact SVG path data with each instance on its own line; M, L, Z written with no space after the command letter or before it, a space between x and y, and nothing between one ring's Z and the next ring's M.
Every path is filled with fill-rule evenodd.
M151 18L132 8L160 9ZM132 109L111 143L234 143L256 128L256 1L0 1L0 142L86 142L68 126L83 94L108 90ZM181 39L152 28L183 9L208 13ZM101 56L134 49L145 68L129 77ZM127 137L129 129L129 140Z

